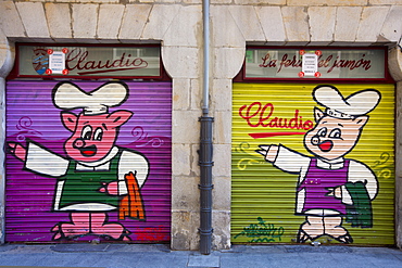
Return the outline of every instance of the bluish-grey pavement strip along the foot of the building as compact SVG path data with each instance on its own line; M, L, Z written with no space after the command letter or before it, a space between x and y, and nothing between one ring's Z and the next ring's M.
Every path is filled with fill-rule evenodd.
M0 245L0 267L402 267L402 251L387 247L234 245L211 255L161 244Z

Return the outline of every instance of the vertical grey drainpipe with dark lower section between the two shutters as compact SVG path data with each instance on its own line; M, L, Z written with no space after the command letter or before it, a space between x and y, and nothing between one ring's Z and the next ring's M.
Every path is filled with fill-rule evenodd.
M200 177L200 253L211 254L212 245L212 123L213 117L209 116L210 95L210 1L203 0L203 100L200 133L199 166Z

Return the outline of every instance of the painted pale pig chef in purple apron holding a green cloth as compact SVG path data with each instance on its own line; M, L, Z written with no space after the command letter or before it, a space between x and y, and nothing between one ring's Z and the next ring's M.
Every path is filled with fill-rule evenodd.
M377 106L380 93L366 89L344 99L337 88L318 86L313 97L326 111L314 109L315 126L304 136L304 146L312 157L275 144L260 145L256 152L275 167L299 174L296 213L304 215L305 221L300 226L298 242L328 235L341 243L352 243L352 237L342 227L347 205L355 205L354 216L364 218L353 219L352 226L372 227L370 205L362 209L354 201L369 203L378 186L365 164L344 156L356 145L368 120L366 114Z

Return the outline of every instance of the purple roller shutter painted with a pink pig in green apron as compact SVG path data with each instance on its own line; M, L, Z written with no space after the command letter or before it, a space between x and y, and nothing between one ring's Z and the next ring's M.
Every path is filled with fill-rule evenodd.
M66 87L91 95L105 84L70 81ZM104 103L113 103L114 91L104 103L88 98L89 106L109 111L87 117L83 107L66 109L70 101L80 103L79 94L67 93L62 105L54 100L60 85L7 84L7 242L169 241L172 84L111 84L127 89L124 100L109 107ZM116 111L133 115L123 118ZM80 159L90 146L77 150L81 140L101 144L91 155L108 156L87 166ZM80 158L75 161L68 149L80 152Z

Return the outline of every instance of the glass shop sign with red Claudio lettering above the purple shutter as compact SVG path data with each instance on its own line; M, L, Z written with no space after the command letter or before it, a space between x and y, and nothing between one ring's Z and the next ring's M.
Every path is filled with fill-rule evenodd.
M18 75L159 77L159 47L18 47Z

